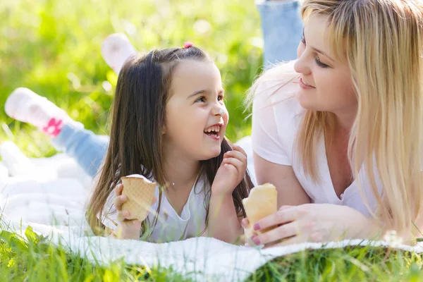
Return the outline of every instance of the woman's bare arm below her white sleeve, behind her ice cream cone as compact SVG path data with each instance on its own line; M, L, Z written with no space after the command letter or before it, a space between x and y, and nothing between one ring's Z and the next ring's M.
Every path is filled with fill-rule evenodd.
M278 208L309 204L310 198L298 182L292 166L274 164L254 153L257 184L271 183L278 191Z

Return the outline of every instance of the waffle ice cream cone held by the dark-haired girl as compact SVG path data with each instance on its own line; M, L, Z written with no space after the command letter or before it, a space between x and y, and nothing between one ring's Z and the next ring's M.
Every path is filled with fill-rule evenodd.
M152 183L140 174L124 176L121 180L123 184L122 195L128 197L128 200L122 205L122 210L130 212L128 219L144 221L153 204L156 183Z

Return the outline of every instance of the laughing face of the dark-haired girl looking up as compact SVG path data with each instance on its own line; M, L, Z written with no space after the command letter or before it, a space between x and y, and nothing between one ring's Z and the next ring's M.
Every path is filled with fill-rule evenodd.
M195 160L219 156L228 112L219 69L212 61L183 60L172 73L164 145Z

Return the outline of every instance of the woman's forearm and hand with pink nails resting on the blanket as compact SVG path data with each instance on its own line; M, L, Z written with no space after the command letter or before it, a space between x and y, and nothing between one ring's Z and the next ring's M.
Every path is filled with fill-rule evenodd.
M249 227L243 219L244 228ZM357 210L336 204L283 206L252 226L254 235L245 238L255 245L274 247L303 242L328 242L342 239L374 239L381 231L376 221ZM258 233L266 228L274 228Z

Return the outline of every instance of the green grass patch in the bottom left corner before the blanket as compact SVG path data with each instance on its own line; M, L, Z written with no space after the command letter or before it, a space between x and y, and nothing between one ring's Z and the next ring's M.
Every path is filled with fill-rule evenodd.
M189 281L172 269L129 266L122 260L96 266L31 228L25 237L0 232L0 281Z

